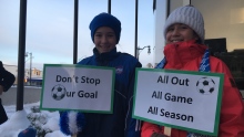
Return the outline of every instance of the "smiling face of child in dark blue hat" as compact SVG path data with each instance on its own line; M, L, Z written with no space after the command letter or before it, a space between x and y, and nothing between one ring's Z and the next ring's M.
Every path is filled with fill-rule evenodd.
M111 28L101 27L95 31L94 44L99 53L110 52L116 45L116 35Z

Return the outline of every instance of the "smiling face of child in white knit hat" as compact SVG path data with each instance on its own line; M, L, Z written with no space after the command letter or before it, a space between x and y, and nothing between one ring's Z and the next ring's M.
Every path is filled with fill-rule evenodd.
M186 24L175 23L167 28L166 43L199 40L196 33Z

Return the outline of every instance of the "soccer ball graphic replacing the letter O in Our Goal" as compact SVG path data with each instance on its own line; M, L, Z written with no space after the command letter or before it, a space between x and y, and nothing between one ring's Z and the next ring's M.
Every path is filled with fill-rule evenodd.
M64 86L62 85L55 85L52 87L52 98L54 98L55 101L60 101L67 94L67 89Z

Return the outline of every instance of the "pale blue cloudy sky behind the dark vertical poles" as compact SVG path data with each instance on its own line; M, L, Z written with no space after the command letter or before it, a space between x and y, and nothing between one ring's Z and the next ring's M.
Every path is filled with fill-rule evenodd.
M0 0L0 60L7 65L18 64L20 0ZM78 61L92 55L89 23L99 13L108 12L108 0L79 1ZM32 53L32 67L43 64L73 63L74 0L28 0L26 52ZM122 23L118 51L134 55L135 2L111 0L111 13ZM153 64L154 14L153 1L139 1L138 46L143 66ZM26 67L30 65L30 54Z

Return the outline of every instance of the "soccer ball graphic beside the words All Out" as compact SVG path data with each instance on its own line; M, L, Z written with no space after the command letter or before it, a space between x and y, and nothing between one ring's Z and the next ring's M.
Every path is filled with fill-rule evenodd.
M204 95L211 94L214 92L214 81L210 77L202 77L196 82L196 89Z

